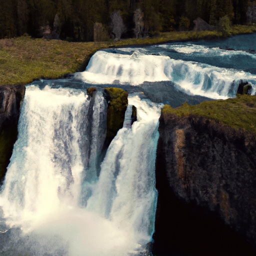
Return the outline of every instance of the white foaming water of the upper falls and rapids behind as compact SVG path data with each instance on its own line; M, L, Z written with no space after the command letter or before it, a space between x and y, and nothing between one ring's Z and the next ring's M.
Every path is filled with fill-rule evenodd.
M164 45L161 47L164 48ZM215 54L218 52L218 55L241 54L241 51L227 51L201 45L173 45L165 48L172 48L180 53L205 54L207 51ZM86 70L76 73L75 77L94 84L120 82L138 85L144 81L170 80L188 93L216 99L235 97L242 79L252 85L252 94L256 92L256 75L249 72L196 61L176 60L164 53L150 55L147 50L140 48L124 48L122 51L130 54L97 51L91 57Z

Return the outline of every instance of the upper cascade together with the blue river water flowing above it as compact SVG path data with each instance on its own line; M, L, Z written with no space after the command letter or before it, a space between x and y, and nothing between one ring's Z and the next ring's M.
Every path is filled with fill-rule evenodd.
M172 43L97 51L75 77L94 84L172 81L189 94L225 99L236 96L241 80L256 93L256 75L249 72L255 64L248 52Z

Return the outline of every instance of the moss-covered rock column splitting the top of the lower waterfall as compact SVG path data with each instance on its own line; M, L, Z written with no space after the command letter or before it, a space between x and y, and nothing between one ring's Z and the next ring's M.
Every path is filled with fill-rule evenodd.
M125 110L128 105L128 92L120 88L105 88L110 96L107 107L106 136L114 137L122 128Z

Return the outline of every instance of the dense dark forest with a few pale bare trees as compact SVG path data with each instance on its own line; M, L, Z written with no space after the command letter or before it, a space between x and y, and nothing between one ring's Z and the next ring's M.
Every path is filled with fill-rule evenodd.
M0 38L20 35L75 41L142 37L211 25L227 16L246 22L250 0L0 0Z

